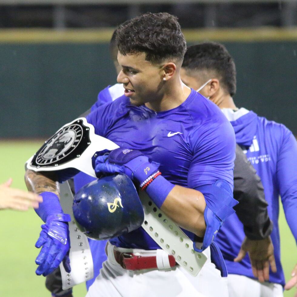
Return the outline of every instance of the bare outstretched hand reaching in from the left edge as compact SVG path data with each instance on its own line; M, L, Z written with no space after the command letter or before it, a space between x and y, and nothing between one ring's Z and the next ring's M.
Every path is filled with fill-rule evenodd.
M25 211L28 208L38 208L42 197L32 192L10 188L12 179L0 185L0 209L15 209Z

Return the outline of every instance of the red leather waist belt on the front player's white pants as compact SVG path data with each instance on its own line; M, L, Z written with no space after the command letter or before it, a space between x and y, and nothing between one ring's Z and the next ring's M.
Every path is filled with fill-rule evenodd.
M136 256L132 253L122 253L113 250L115 255L115 260L122 266L122 268L127 270L141 270L141 269L156 269L157 259L156 256ZM170 267L176 265L175 259L172 255L168 255Z

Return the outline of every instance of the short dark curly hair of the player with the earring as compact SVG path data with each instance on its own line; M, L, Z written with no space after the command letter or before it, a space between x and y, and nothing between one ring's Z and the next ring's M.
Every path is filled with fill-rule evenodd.
M168 58L182 61L186 51L179 22L167 12L146 13L120 25L116 42L122 55L144 52L145 59L152 63Z

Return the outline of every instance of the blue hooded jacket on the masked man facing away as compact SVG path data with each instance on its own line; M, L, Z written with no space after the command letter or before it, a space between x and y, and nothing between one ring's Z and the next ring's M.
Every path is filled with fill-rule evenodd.
M297 143L284 125L268 121L244 108L237 112L222 110L235 130L236 142L246 147L246 156L260 176L268 202L268 213L273 221L271 239L277 272L270 270L270 282L285 284L280 262L279 195L289 227L297 239ZM242 223L236 215L226 219L215 241L225 259L228 273L254 278L249 257L233 262L244 239Z

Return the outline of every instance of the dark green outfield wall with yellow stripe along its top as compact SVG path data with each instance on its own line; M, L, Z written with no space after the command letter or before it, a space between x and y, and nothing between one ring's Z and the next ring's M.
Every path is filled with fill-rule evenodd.
M297 29L185 30L189 45L225 44L237 68L238 107L297 134ZM116 82L112 30L0 31L0 137L44 138Z

